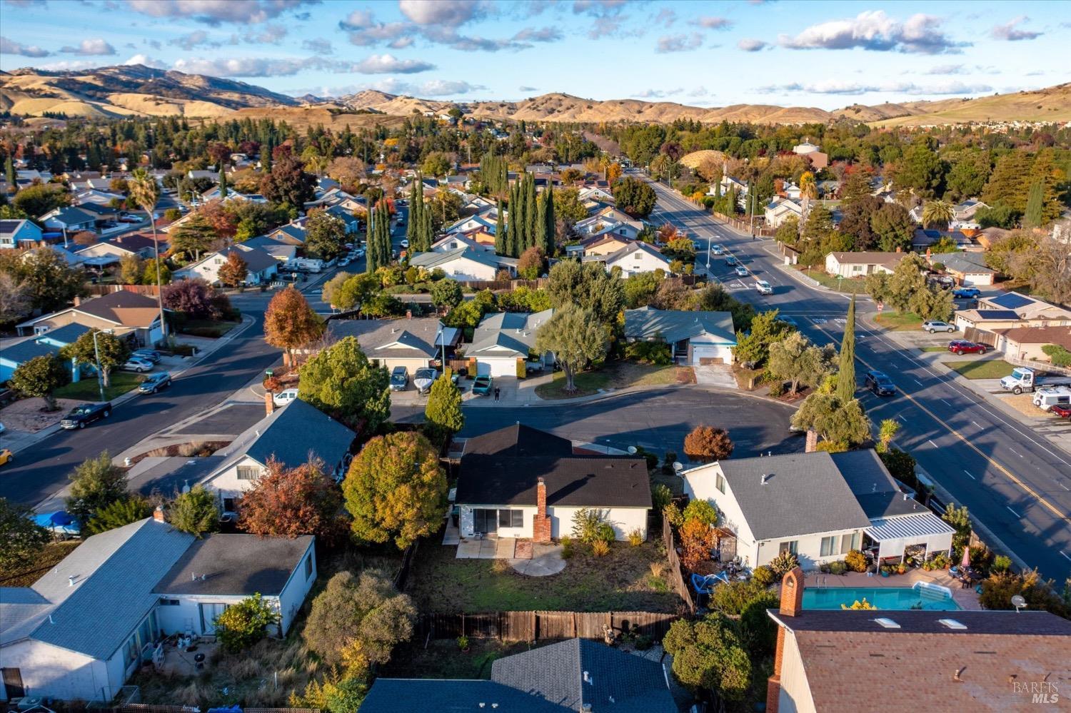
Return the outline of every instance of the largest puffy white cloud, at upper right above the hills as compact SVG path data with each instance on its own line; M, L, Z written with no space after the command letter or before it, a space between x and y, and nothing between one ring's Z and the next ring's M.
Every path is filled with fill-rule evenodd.
M873 51L939 55L959 52L970 43L953 42L940 29L941 20L917 14L900 22L881 10L865 11L854 18L813 25L796 36L783 34L779 42L790 49L868 49Z

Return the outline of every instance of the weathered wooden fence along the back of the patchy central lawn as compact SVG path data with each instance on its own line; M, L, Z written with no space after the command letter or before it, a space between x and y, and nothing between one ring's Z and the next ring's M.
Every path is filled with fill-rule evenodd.
M679 615L655 611L492 611L486 613L424 613L417 619L417 640L473 639L537 641L539 639L603 638L603 626L635 632L661 641Z

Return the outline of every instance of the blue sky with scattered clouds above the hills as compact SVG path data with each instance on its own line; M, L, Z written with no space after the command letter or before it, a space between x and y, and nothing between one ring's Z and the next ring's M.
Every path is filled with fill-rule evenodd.
M302 94L838 108L1071 80L1067 2L0 0L0 69L144 63ZM1062 58L1062 59L1060 59Z

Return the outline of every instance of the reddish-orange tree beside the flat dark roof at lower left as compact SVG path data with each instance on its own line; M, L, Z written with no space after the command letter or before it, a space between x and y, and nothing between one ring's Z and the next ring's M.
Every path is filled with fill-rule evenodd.
M321 460L287 468L273 458L268 472L238 501L239 525L260 537L312 534L330 538L336 531L341 502Z

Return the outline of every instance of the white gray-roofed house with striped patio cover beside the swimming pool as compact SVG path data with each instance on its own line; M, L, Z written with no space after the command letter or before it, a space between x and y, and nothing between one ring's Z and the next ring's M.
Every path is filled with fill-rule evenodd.
M681 476L690 498L714 505L718 527L735 534L735 555L750 567L783 551L813 570L869 544L890 560L918 545L952 547L952 528L901 492L874 451L731 458Z

